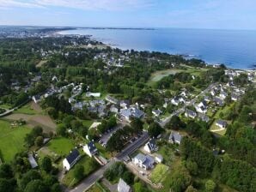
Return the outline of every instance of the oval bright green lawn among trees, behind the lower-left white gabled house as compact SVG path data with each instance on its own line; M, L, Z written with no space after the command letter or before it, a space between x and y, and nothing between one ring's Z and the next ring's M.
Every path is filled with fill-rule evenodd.
M75 144L70 139L58 137L50 141L46 147L62 156L69 154L71 149L75 147Z

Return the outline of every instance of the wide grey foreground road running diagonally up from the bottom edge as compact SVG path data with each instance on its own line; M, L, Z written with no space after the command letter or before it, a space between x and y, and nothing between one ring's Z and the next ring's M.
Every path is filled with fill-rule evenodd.
M137 150L138 147L141 147L144 142L146 142L149 139L149 135L147 132L143 132L143 135L137 139L137 141L134 141L129 146L125 147L125 149L120 152L115 158L111 159L107 165L101 166L101 168L98 171L95 171L93 174L91 174L89 177L86 177L79 185L76 186L75 189L65 189L65 192L82 192L88 190L91 186L94 185L94 183L97 182L98 179L101 179L103 177L103 173L107 168L111 165L113 165L114 162L122 160L127 155L130 155L134 151Z

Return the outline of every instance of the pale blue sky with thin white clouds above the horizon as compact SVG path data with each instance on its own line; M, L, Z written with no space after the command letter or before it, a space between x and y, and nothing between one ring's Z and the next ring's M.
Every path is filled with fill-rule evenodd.
M256 0L0 0L0 25L256 30Z

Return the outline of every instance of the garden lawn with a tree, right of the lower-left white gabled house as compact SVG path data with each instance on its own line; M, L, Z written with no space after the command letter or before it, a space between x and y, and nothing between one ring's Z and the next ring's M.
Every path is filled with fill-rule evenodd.
M87 155L83 155L82 159L80 159L76 165L83 165L84 177L87 177L100 166L94 158L89 158ZM64 179L62 180L62 183L69 188L76 186L76 184L80 182L74 177L74 168L76 165L64 176Z

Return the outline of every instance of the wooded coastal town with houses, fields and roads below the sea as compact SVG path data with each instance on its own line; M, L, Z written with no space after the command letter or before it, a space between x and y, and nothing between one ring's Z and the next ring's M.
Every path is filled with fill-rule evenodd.
M0 177L14 166L18 191L254 191L235 182L255 180L255 70L58 30L0 33Z

